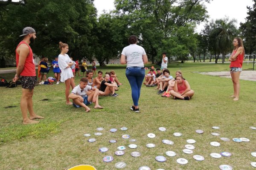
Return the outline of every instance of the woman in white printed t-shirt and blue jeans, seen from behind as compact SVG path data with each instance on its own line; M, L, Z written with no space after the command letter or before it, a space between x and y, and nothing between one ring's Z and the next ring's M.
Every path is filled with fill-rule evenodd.
M131 110L140 112L138 101L140 99L140 88L145 77L144 64L148 57L143 47L137 45L137 37L131 35L128 39L129 46L122 50L121 64L127 64L125 75L131 85L131 97L134 105Z

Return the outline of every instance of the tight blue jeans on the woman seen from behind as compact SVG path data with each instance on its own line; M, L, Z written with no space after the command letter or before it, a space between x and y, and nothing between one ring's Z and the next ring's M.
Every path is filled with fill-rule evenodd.
M134 106L138 106L140 88L145 77L145 70L143 67L128 67L126 68L125 75L131 85L131 97L134 102Z

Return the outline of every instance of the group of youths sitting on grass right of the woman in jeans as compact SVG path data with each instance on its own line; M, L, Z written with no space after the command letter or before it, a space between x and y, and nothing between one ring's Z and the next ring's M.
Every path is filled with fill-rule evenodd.
M157 68L157 73L154 68L151 68L147 75L145 75L145 82L143 83L146 87L157 86L157 94L162 94L163 97L173 96L174 99L189 100L193 95L194 91L191 90L189 82L186 81L181 71L176 71L176 77L173 78L170 75L170 71L164 68L161 72L160 68Z

